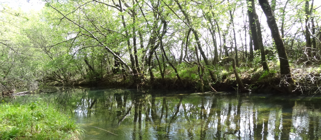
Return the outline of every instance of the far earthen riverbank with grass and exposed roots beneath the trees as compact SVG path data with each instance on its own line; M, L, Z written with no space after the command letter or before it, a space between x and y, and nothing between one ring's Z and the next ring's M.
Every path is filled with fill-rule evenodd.
M247 65L237 67L239 77L246 89L252 90L252 92L274 92L283 93L284 91L280 87L282 82L281 74L278 72L280 69L277 63L272 63L269 66L269 72L263 71L262 67L250 67ZM321 67L320 66L308 66L302 67L293 65L291 66L292 78L295 80L295 92L297 94L315 94L320 92L321 85ZM237 90L238 83L236 81L235 74L230 65L218 66L213 71L216 77L215 82L211 82L211 86L216 91ZM180 68L178 73L181 75L184 85L182 85L175 72L171 69L165 73L165 78L162 79L161 75L155 72L155 81L150 81L150 77L145 76L143 88L147 89L185 89L202 91L202 85L198 77L197 66L189 68ZM148 75L148 74L146 74ZM50 82L48 85L77 85L77 86L102 86L110 88L137 88L130 76L126 76L124 80L122 74L109 74L102 79L88 80L78 79L67 83ZM208 73L204 73L204 85L203 91L210 91L211 88L208 85L210 77Z

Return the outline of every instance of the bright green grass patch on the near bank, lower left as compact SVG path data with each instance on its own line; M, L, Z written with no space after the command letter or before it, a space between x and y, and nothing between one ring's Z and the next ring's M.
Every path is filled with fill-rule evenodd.
M78 140L83 134L79 124L51 105L0 103L0 140Z

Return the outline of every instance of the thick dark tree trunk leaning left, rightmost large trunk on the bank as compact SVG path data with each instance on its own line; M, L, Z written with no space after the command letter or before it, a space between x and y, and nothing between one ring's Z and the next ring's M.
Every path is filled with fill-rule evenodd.
M272 12L272 8L267 0L259 0L259 4L261 5L263 12L265 13L265 16L267 18L266 22L271 30L271 34L279 54L280 73L286 81L283 85L288 93L292 93L295 85L291 75L288 55L286 54L284 43L280 35L279 28L276 24L276 20L274 18L274 13Z

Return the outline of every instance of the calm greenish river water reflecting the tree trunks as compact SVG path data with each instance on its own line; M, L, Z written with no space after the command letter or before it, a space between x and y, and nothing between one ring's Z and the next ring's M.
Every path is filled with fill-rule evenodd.
M85 140L321 139L320 97L70 89L5 100L37 97L83 124Z

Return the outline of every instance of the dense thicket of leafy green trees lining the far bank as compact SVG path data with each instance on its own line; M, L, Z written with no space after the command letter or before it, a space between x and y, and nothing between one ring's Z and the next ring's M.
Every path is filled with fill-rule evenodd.
M182 87L189 79L214 90L229 67L220 61L230 57L246 71L279 71L280 86L291 92L299 85L291 68L320 64L321 8L314 0L45 3L33 14L2 4L1 87L117 75L135 87L176 76Z

